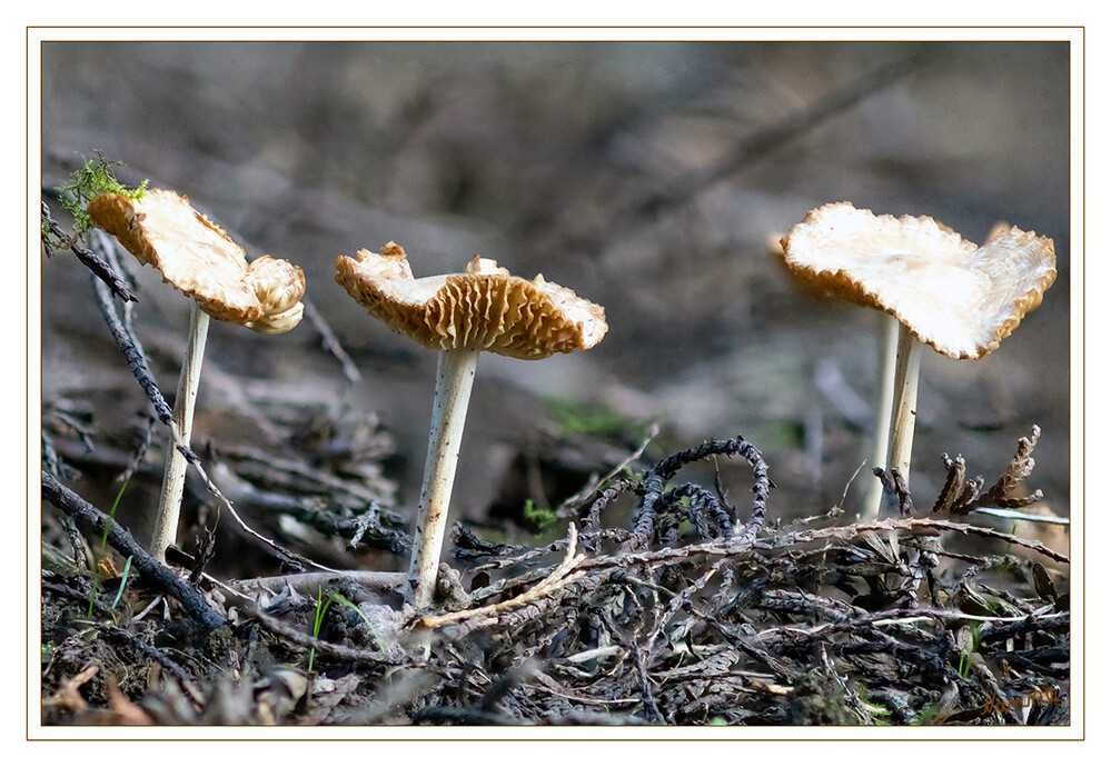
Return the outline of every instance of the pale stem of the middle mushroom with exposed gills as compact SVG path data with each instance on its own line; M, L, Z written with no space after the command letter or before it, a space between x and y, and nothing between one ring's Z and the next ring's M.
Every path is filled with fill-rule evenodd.
M455 485L455 467L459 460L459 444L467 420L467 405L475 382L478 355L475 349L447 349L440 352L436 368L436 398L433 402L431 429L428 432L428 457L420 488L417 527L413 535L413 559L409 564L409 587L413 605L418 610L431 606L436 590L447 509Z

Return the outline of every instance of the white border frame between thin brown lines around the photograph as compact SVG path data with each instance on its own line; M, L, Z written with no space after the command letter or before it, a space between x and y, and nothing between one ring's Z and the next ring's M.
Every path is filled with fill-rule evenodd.
M408 41L1049 41L1071 43L1071 307L1070 307L1070 405L1072 518L1071 594L1073 600L1071 720L1061 728L1018 727L930 727L930 728L714 728L645 727L618 731L591 727L546 728L44 728L38 724L40 708L39 620L32 606L40 602L38 536L30 535L31 522L39 518L41 485L36 471L39 455L38 421L41 391L38 366L41 356L39 318L41 306L37 286L41 283L38 200L42 156L39 106L41 99L40 46L47 41L155 40L155 41L330 41L330 40L408 40ZM27 258L27 487L28 487L28 740L1077 740L1084 738L1084 636L1087 615L1084 591L1084 306L1085 266L1085 50L1083 27L29 27L27 28L27 142L28 142L28 258ZM32 407L33 406L33 407ZM1079 609L1078 609L1079 608ZM1079 616L1079 620L1077 617ZM1079 630L1078 630L1079 629ZM32 721L32 718L34 721ZM924 735L926 734L926 735Z

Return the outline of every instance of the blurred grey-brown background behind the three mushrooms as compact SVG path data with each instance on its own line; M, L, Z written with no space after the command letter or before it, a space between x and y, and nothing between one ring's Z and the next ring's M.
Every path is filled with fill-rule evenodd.
M483 358L455 518L558 504L652 422L649 457L742 434L771 466L770 518L825 511L867 455L877 318L796 293L768 243L851 200L976 241L999 220L1054 239L1055 285L996 352L928 352L911 489L932 505L942 451L993 481L1038 424L1032 485L1069 514L1067 42L58 42L42 62L44 187L102 150L121 179L188 195L249 258L305 270L361 373L345 378L311 322L272 338L215 322L195 440L280 457L292 447L252 410L374 412L394 440L384 498L408 515L435 353L333 277L337 253L396 240L417 276L475 253L542 271L611 327L588 352ZM170 397L188 301L138 276L136 330ZM44 412L123 429L145 405L87 273L59 255L41 288ZM747 466L721 468L746 506ZM81 489L110 505L93 479Z

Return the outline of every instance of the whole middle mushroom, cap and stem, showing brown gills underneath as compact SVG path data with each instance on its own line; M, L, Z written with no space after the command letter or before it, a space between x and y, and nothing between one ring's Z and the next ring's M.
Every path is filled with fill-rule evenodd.
M482 351L517 359L589 349L605 310L542 275L513 277L475 256L462 275L414 279L400 246L336 258L336 281L395 331L439 350L428 455L417 509L409 587L417 609L433 601L459 442Z

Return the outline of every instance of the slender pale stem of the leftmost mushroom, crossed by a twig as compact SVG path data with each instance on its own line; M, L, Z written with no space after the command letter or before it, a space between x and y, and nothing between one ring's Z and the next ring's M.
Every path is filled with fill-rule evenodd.
M170 425L170 442L166 447L166 471L162 475L162 495L155 518L155 535L150 544L151 554L166 564L166 549L178 534L178 516L181 511L181 496L185 489L187 461L178 446L189 447L192 434L194 406L200 386L200 366L205 359L205 342L208 340L209 317L200 305L192 301L189 315L189 346L181 365L178 379L178 394L173 400L173 420Z

